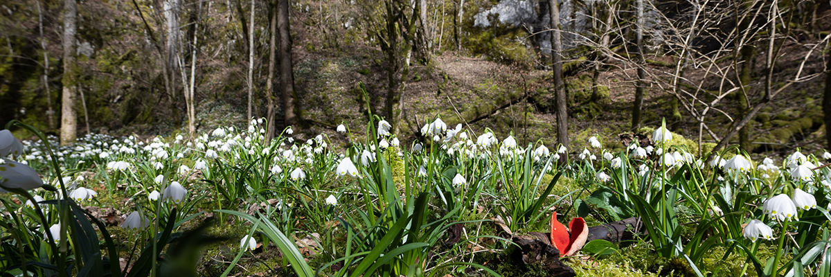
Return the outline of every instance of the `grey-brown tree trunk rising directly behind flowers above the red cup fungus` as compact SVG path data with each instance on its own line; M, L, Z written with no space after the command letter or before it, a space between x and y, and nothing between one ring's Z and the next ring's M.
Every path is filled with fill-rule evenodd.
M566 111L566 92L563 86L563 42L560 37L560 12L557 0L548 4L551 27L551 66L553 67L554 98L557 101L557 141L568 148L568 111ZM565 161L565 159L563 159Z

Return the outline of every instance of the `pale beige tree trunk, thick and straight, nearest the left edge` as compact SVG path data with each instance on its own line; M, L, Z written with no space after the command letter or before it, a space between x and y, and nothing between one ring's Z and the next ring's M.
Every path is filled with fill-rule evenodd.
M63 2L63 97L61 99L61 145L75 142L76 134L76 65L75 35L77 32L78 4L76 0Z

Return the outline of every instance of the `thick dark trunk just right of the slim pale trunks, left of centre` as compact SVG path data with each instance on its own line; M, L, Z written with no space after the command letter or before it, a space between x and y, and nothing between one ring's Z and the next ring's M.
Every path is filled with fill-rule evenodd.
M277 28L280 36L280 85L283 87L283 118L286 126L297 123L294 101L294 72L292 70L292 37L289 29L288 0L278 0Z

